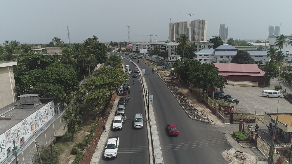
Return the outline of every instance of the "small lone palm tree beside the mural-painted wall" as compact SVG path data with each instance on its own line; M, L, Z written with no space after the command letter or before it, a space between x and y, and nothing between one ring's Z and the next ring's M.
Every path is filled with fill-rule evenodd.
M65 121L65 126L68 127L68 132L72 134L72 141L74 141L74 134L80 130L78 123L81 123L82 120L79 115L79 111L75 106L71 106L70 108L65 110L65 115L62 116L62 121Z

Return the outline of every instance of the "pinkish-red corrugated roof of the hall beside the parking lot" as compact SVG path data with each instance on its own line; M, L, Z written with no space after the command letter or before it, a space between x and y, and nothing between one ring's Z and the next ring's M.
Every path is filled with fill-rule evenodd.
M214 63L219 72L243 72L243 73L260 73L262 70L257 64L238 64L238 63Z

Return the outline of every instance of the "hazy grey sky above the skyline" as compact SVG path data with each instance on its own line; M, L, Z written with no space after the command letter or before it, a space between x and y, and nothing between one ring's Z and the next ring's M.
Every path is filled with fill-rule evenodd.
M49 43L59 37L68 43L82 43L96 35L100 42L166 41L168 23L208 20L207 39L218 35L220 24L228 27L228 38L265 39L268 25L281 23L280 34L292 34L289 10L292 0L0 0L0 44L5 40L20 43ZM178 13L184 12L184 13Z

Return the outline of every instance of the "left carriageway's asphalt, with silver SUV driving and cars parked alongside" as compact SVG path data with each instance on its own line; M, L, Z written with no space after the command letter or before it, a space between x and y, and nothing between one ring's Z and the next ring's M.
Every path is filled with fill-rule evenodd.
M129 64L130 69L135 69L135 66L128 60L123 60L124 65ZM133 75L133 73L132 73ZM133 79L135 84L133 85ZM148 148L148 135L146 128L146 114L145 105L142 95L142 86L139 75L137 78L130 77L130 94L121 97L130 96L130 102L126 105L125 115L127 116L127 123L123 124L122 130L110 129L109 136L119 136L120 146L118 149L117 158L106 159L103 154L99 163L150 163L149 161L149 148ZM144 128L134 129L134 119L136 113L142 113L144 118ZM107 141L106 141L107 142Z

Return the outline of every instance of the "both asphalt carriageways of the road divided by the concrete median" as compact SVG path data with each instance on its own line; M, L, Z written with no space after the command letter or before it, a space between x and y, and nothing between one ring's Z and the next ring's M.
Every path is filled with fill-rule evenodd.
M130 61L124 59L123 62L129 64L130 69L135 69ZM142 70L141 61L139 67ZM144 78L150 95L154 95L152 106L164 163L228 163L221 153L231 147L220 130L208 123L191 120L161 78L157 74L152 74L152 67L143 63L143 69L145 69L145 74L151 74L149 83L147 83L147 76ZM135 79L135 85L131 83L133 79ZM122 130L109 132L109 136L120 137L118 157L116 159L101 157L100 163L150 163L149 149L146 148L148 146L147 128L133 128L135 113L142 113L145 118L139 76L130 78L130 86L130 103L126 105L128 121L123 124ZM178 125L180 135L177 137L167 135L166 125L169 123Z

